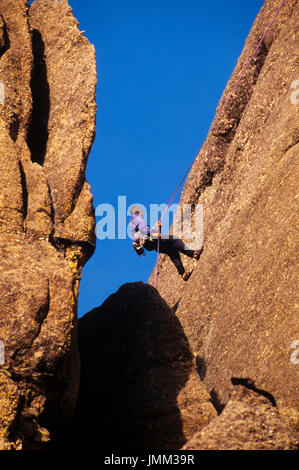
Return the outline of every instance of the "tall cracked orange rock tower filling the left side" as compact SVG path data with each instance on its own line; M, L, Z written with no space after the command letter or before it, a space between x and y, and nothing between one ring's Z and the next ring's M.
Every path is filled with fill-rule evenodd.
M73 413L95 245L95 54L67 1L1 0L0 80L0 449L36 448Z

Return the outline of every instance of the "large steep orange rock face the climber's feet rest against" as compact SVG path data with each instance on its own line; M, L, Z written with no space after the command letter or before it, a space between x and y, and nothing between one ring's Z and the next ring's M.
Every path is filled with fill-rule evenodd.
M158 290L176 305L200 376L220 405L232 376L249 377L296 427L299 105L291 85L299 77L298 2L284 4L221 113L279 4L266 1L256 18L182 192L181 205L203 204L202 256L184 258L192 271L184 283L163 255Z

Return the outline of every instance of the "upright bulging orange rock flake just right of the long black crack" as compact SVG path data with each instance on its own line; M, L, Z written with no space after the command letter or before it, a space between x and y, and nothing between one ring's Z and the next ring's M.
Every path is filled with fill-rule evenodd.
M80 32L68 2L35 0L29 21L45 48L51 109L43 168L55 224L62 225L76 211L95 134L95 50Z

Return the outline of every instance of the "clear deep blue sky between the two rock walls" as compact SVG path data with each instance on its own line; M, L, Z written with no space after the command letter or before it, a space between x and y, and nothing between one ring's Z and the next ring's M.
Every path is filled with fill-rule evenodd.
M168 202L203 144L262 0L69 0L98 63L97 136L87 179L95 207ZM176 199L178 201L179 195ZM98 219L97 219L98 221ZM147 282L155 253L97 242L79 316L123 283Z

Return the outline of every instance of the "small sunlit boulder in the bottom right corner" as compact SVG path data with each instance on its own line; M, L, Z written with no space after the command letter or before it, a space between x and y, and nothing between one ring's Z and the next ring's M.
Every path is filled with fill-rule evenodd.
M236 387L223 413L196 433L183 450L295 450L296 436L270 401Z

